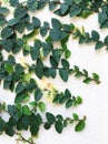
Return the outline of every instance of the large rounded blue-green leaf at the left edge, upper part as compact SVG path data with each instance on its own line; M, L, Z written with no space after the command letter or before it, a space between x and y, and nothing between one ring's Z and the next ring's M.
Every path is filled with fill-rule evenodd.
M10 27L6 27L1 30L1 38L7 39L13 34L13 30Z

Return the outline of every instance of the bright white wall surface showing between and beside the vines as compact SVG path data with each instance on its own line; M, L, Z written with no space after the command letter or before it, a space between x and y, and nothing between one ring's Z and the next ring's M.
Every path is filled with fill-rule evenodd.
M98 24L97 14L92 14L87 19L81 18L59 18L56 14L49 12L48 7L42 11L36 12L36 17L41 21L51 21L51 18L58 18L63 23L75 23L78 27L85 27L85 30L91 32L97 30L101 40L107 35L108 29L100 30ZM10 18L9 18L10 19ZM63 116L71 116L72 112L76 112L81 116L87 115L87 126L80 132L73 132L73 126L69 125L65 128L61 135L57 134L52 127L49 131L45 131L42 127L39 133L39 137L36 140L37 144L108 144L108 52L102 48L95 51L95 44L78 44L77 40L70 38L68 48L71 50L71 58L69 59L70 65L78 65L81 69L87 69L90 73L97 72L100 75L101 83L96 85L90 83L86 85L81 80L77 80L70 76L68 83L63 83L59 76L56 80L45 80L51 82L58 90L63 91L69 89L75 95L81 95L84 103L76 107L66 110L63 106L55 106L50 102L47 104L47 111L53 114L61 113ZM3 52L6 55L6 52ZM6 55L7 56L7 55ZM17 55L22 58L21 53ZM22 59L22 61L30 61L30 58ZM21 62L21 61L20 61ZM2 90L0 85L0 102L6 101L12 103L14 94L9 91ZM4 115L7 119L7 115ZM28 133L26 133L28 135ZM0 144L16 144L16 137L9 137L7 135L0 136Z

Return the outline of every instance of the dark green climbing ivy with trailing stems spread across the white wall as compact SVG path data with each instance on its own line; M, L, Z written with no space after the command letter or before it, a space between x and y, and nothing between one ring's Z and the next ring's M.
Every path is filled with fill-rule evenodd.
M77 106L82 103L82 99L78 95L75 96L68 89L65 92L58 92L57 90L41 89L36 79L32 79L35 73L38 79L52 78L55 79L59 74L63 82L68 82L69 76L73 75L76 79L82 78L82 82L88 84L95 82L100 83L99 75L92 73L89 75L88 71L80 70L77 65L70 68L70 63L67 59L70 58L71 51L68 49L68 40L72 35L73 39L79 39L79 44L94 42L95 49L98 50L102 47L108 47L108 37L106 35L104 41L100 40L100 35L96 30L91 33L85 32L76 28L72 23L62 23L60 20L52 18L51 25L43 21L43 24L35 16L30 16L32 12L41 10L46 4L49 6L49 10L60 17L69 14L72 17L87 18L91 13L98 13L98 21L100 28L108 27L108 7L106 2L100 1L87 1L87 0L46 0L36 1L27 0L19 2L19 0L9 0L13 9L12 19L8 20L7 14L10 10L6 7L0 7L0 27L1 40L0 40L0 82L3 81L3 89L10 90L16 93L14 104L6 105L0 103L0 112L4 112L9 115L9 120L6 122L0 116L0 132L4 132L9 136L18 135L18 141L35 144L32 136L39 133L40 126L43 125L46 130L55 126L57 133L61 134L63 128L68 124L75 123L75 131L80 132L86 127L86 116L79 119L79 115L72 113L71 117L63 117L61 114L52 114L46 112L47 105L42 102L42 97L46 92L52 94L52 103L58 105L65 105L66 109ZM29 33L26 34L24 30ZM21 38L18 38L18 33ZM33 45L28 42L35 38L36 34L45 37L45 41L35 39ZM59 48L55 48L56 42L60 43ZM108 49L108 48L107 48ZM11 55L3 60L2 50L7 51ZM16 62L16 54L22 50L23 56L29 55L33 61L33 64L22 66ZM45 58L48 58L49 65L46 65ZM32 102L30 100L32 99ZM46 120L45 120L45 119ZM29 131L30 138L24 138L19 131Z

